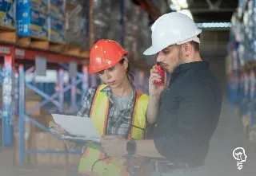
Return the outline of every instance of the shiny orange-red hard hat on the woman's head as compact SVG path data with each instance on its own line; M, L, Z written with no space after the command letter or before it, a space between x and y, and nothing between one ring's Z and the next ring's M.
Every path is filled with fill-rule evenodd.
M118 64L129 53L122 49L116 41L102 39L90 50L89 73L100 72Z

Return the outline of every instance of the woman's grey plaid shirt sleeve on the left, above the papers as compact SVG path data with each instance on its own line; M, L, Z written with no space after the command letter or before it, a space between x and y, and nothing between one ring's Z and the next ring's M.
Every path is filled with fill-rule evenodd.
M92 104L96 88L89 88L86 95L82 99L82 107L77 113L77 116L88 117L90 115L90 106Z

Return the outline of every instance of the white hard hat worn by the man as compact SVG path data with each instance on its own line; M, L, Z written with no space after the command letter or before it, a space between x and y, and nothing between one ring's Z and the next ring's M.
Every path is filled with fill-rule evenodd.
M190 17L177 12L162 15L151 26L151 30L152 45L144 55L153 55L169 45L181 45L188 41L200 43L197 36L202 32Z

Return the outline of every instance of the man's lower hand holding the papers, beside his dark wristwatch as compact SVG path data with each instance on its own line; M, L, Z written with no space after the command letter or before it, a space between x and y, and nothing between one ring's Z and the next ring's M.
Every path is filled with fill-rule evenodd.
M102 137L102 148L110 157L121 158L126 155L126 139L117 135L106 135Z

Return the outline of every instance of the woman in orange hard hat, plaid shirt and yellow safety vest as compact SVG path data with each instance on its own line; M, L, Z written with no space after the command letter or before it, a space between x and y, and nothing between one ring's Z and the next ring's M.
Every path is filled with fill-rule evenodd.
M105 84L89 88L78 116L92 118L102 136L144 139L148 96L134 88L127 56L128 53L115 41L100 40L93 46L89 73L98 73ZM53 122L50 126L57 134L65 133ZM135 157L110 158L94 148L86 147L78 172L94 176L138 175L141 170L134 166L136 160Z

